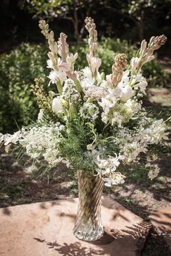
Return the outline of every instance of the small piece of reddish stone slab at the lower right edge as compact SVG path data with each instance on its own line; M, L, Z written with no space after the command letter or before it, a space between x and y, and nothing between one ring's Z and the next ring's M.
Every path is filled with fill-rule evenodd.
M150 220L158 234L164 236L171 250L171 207L164 207L152 212Z

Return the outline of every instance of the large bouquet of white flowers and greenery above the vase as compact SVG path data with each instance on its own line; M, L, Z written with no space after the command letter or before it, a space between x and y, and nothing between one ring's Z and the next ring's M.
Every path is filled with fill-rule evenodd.
M39 78L32 86L40 107L38 120L13 135L0 134L0 142L7 150L12 143L20 144L30 157L43 157L51 166L64 162L74 170L88 171L106 186L124 183L122 167L143 157L152 179L159 168L151 162L151 145L167 139L167 133L165 122L149 117L142 106L147 82L141 70L167 38L152 36L149 44L143 40L130 63L125 54L114 55L112 73L105 75L99 72L96 25L91 17L85 22L89 52L82 70L75 70L78 53L70 53L67 36L60 33L55 41L49 25L39 22L49 43L51 71L49 86L42 86Z

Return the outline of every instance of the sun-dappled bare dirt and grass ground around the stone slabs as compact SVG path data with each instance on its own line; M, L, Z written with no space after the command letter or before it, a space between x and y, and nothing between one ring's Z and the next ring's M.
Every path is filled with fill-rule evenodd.
M163 59L162 65L171 75L171 62ZM164 88L150 88L146 106L159 113L159 117L164 119L169 117L171 115L170 83ZM168 128L170 130L170 126ZM50 175L45 173L41 178L38 177L38 173L41 173L42 169L38 170L27 157L19 161L16 154L7 154L3 148L0 150L0 207L78 196L76 178L68 176L67 169L63 165L60 165L58 170L51 170ZM164 156L159 159L161 173L154 181L150 181L144 171L129 170L124 185L104 189L104 194L109 194L117 202L146 220L149 220L149 213L152 210L171 205L169 149L163 153ZM152 228L142 256L169 255L166 242Z

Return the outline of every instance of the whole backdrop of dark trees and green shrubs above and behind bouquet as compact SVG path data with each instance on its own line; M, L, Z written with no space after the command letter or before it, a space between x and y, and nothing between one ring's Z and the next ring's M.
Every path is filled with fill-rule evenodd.
M86 65L87 50L84 19L91 15L99 31L101 71L111 72L113 54L135 55L141 38L166 33L169 28L171 0L2 0L0 2L0 132L17 130L17 125L35 120L38 114L30 85L41 77L48 84L47 47L38 28L45 18L59 36L67 33L73 52L78 51L76 68ZM170 40L168 40L170 42ZM170 43L162 47L167 54ZM157 60L147 64L144 75L150 86L166 86L167 75ZM16 120L16 122L15 122ZM17 123L17 124L16 124Z

